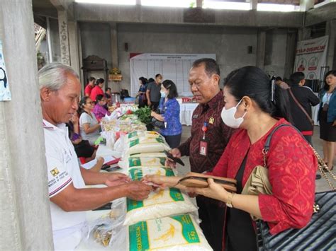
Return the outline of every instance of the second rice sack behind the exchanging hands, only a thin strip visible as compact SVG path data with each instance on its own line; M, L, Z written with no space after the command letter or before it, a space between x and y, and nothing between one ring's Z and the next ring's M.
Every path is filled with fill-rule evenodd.
M166 158L164 157L128 157L119 161L122 168L138 168L138 167L164 167Z

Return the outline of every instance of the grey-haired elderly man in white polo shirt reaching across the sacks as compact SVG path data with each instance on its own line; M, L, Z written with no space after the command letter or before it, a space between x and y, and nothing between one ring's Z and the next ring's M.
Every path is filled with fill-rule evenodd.
M121 173L80 168L65 122L78 109L79 76L69 66L52 63L38 72L45 133L45 156L55 250L74 250L86 230L85 211L120 197L142 200L151 187ZM105 188L85 185L105 184Z

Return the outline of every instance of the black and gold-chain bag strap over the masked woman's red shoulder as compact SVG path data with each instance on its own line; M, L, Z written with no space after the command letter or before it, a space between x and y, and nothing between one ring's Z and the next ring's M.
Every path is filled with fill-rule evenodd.
M302 138L307 142L307 144L313 150L313 153L315 154L315 157L318 159L318 170L320 171L321 175L325 178L325 180L327 181L329 187L332 190L335 190L335 187L334 187L334 185L332 185L331 180L327 177L327 173L330 174L330 176L332 177L333 180L336 180L336 176L331 172L331 170L329 170L329 168L327 167L327 165L325 165L325 162L320 157L320 155L318 154L318 152L315 151L315 149L313 148L313 146L311 146L309 144L309 142L305 139L305 137L301 134L301 132L296 127L293 127L293 125L291 125L291 124L279 124L277 127L275 127L272 130L272 132L269 134L269 136L267 136L266 142L264 144L264 149L262 149L262 155L264 156L264 167L267 168L267 153L269 152L269 145L271 144L271 137L273 136L274 132L276 132L281 127L291 127L293 129L296 129L296 132L298 132L298 134L300 134L302 136ZM327 172L325 172L325 170L327 170Z

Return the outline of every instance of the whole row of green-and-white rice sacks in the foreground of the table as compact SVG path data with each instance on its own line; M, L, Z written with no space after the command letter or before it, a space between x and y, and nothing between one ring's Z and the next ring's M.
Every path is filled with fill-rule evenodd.
M176 175L164 167L164 137L157 132L132 132L126 135L125 154L119 163L132 180L145 175ZM152 191L147 199L126 199L123 232L127 240L113 240L113 250L211 250L191 212L196 206L187 194L177 188Z

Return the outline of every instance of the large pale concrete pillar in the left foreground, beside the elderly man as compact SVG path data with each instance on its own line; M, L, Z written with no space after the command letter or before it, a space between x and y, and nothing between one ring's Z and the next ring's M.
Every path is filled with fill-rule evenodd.
M53 250L31 0L1 1L0 40L12 96L0 102L0 250Z

